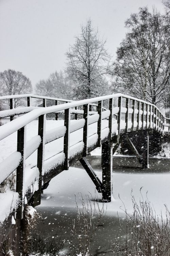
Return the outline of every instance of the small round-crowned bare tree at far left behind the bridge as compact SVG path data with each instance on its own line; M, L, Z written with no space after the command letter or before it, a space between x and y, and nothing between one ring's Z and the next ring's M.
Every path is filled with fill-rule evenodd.
M32 92L31 81L19 71L12 69L0 72L0 95L18 95ZM21 99L14 100L14 107L21 104Z

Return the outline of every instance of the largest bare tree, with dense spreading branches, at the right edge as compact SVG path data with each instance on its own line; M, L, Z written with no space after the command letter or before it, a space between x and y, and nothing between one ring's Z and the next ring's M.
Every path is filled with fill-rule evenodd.
M164 104L169 96L169 16L140 8L125 26L129 31L113 64L115 84L126 93Z

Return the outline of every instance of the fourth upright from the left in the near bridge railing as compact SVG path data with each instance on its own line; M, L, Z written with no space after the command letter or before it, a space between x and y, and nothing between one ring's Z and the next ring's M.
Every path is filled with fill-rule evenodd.
M87 140L88 140L88 115L89 115L89 104L83 105L83 118L85 119L85 124L83 127L83 142L84 142L84 148L83 148L83 157L87 156Z

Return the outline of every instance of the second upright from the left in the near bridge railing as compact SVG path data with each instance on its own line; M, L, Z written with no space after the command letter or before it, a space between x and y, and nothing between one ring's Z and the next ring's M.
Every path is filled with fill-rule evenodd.
M41 188L43 186L44 175L44 148L45 148L45 130L46 130L46 115L38 117L38 135L41 137L41 143L37 150L37 168L39 170L38 190L34 192L34 206L41 203Z

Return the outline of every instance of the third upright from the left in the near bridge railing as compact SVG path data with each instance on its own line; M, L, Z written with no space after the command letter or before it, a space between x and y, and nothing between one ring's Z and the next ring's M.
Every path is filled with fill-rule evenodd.
M64 111L64 125L66 126L66 133L64 136L64 154L65 161L63 165L64 170L69 168L69 147L70 147L70 109Z

